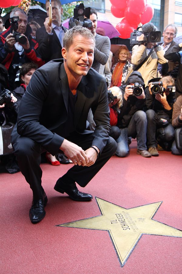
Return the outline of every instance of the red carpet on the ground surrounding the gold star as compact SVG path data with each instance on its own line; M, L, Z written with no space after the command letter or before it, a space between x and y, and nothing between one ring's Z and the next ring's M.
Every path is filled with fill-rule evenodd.
M53 187L69 165L42 164L48 196L46 216L29 220L32 192L22 174L0 174L1 273L181 273L182 237L144 234L121 267L110 235L104 230L57 227L101 215L95 196L129 209L163 201L154 220L182 230L181 156L113 156L81 189L94 196L74 202Z

